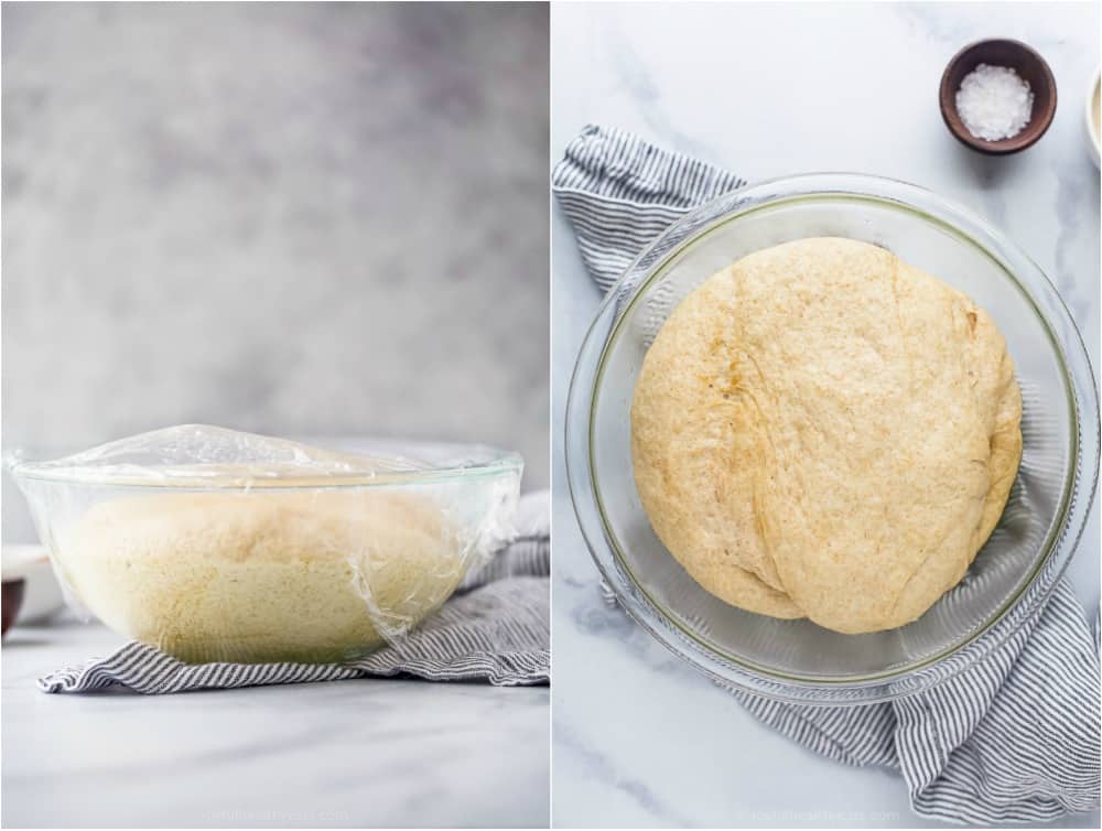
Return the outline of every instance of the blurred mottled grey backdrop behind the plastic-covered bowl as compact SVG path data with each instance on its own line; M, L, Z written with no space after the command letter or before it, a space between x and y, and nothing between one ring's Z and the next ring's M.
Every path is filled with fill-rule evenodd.
M208 422L493 443L547 485L547 7L2 23L7 450Z

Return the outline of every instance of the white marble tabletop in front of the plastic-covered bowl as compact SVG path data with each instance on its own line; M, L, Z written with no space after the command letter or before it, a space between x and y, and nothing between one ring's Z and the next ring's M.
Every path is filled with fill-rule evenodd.
M3 657L6 828L547 827L548 688L363 680L47 695L98 625L15 627Z

